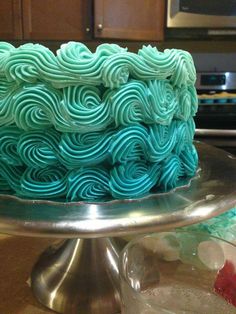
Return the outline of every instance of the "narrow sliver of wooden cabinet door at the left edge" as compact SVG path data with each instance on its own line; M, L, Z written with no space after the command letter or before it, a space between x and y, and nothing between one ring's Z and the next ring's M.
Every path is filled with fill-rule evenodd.
M21 0L0 1L0 40L21 39Z

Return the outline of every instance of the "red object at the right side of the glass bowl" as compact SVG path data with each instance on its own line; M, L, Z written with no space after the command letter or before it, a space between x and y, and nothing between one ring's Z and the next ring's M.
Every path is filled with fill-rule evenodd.
M226 301L236 306L236 271L232 262L226 261L224 267L219 270L214 290Z

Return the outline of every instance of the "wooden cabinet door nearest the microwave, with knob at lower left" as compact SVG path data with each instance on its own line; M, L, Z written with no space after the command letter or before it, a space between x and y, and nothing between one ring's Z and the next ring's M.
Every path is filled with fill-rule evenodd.
M163 40L164 0L95 0L95 37Z

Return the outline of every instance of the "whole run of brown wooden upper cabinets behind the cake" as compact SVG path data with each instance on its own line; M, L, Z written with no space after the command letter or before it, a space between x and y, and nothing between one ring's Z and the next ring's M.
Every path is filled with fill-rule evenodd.
M0 40L157 41L164 15L165 0L0 0Z

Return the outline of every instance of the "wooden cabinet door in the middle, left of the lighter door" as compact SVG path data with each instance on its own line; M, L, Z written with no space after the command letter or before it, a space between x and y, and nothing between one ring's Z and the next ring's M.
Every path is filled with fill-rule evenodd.
M91 12L92 0L23 0L24 38L89 39Z

